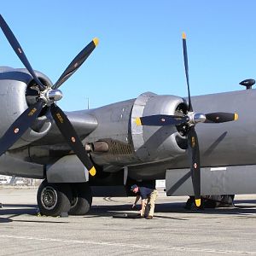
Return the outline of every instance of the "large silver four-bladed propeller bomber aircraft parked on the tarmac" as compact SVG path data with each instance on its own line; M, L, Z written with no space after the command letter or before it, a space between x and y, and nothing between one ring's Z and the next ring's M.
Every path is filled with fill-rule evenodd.
M44 179L38 188L42 214L85 214L91 188L97 195L129 195L132 183L164 178L166 195L195 195L197 206L201 195L256 192L255 90L191 97L184 33L188 98L146 92L64 113L56 105L59 88L98 39L53 84L32 69L2 15L0 26L26 67L0 67L0 173Z

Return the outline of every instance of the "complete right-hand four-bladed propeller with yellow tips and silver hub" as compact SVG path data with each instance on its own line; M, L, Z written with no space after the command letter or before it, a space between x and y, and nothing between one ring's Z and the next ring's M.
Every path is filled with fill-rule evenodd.
M195 205L201 206L201 165L200 165L200 148L198 137L195 131L197 123L224 123L238 119L237 113L195 113L193 111L190 90L189 90L189 61L187 53L186 34L183 32L183 59L185 67L186 82L188 87L188 111L182 116L156 114L150 116L138 117L135 121L137 125L164 126L164 125L186 125L190 172L195 194Z

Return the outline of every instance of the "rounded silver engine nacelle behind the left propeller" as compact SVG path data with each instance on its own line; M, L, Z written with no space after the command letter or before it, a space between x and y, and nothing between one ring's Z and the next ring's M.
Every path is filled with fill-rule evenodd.
M51 84L43 73L37 72L37 75L43 84ZM0 83L0 137L2 137L9 126L15 122L15 119L35 102L37 90L31 90L34 83L26 69L0 67ZM33 91L35 95L32 96L31 93L28 93L29 90ZM29 128L12 148L25 146L47 134L51 127L51 121L43 113L44 108L32 128Z

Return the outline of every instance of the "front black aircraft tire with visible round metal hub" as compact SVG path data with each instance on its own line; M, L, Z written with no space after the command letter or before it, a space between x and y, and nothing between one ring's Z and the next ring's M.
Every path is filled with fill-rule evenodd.
M46 180L38 188L38 207L42 215L60 216L70 210L72 192L67 183L48 183Z

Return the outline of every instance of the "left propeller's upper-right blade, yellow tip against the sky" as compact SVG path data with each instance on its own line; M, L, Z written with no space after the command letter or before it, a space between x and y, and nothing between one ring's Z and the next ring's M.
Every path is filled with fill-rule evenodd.
M82 49L79 54L71 61L66 70L61 74L60 79L53 85L53 89L57 89L63 84L67 79L69 79L73 73L75 73L79 67L84 63L84 61L89 57L92 51L96 48L99 43L98 38L94 38L90 44Z

